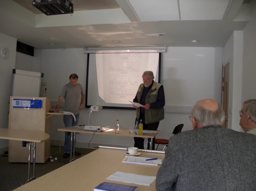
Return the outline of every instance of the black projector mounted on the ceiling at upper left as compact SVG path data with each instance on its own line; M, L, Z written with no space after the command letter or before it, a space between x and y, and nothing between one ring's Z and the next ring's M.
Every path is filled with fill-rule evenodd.
M32 5L46 15L70 14L74 12L69 0L34 0Z

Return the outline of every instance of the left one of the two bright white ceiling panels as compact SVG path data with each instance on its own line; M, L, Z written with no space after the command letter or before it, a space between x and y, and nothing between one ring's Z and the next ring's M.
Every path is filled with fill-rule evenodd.
M179 20L177 0L129 0L141 21Z

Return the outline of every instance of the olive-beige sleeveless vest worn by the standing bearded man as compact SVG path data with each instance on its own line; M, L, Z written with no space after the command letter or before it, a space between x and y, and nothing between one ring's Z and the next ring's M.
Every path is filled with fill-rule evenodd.
M153 82L153 85L151 89L149 90L146 99L145 99L145 104L148 103L154 103L157 101L157 92L159 88L162 86L162 84ZM138 89L138 94L137 94L137 100L140 103L141 95L144 89L144 84L140 84L139 89ZM139 120L140 119L140 108L137 108L136 112L136 118ZM161 121L165 118L165 112L164 112L164 107L158 108L158 109L145 109L145 123L155 123L158 121Z

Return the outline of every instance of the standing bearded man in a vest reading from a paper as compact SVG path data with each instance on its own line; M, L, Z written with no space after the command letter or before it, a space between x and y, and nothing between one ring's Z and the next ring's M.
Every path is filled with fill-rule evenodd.
M140 84L138 92L133 102L144 105L137 107L136 120L142 120L143 129L157 130L159 121L165 117L165 92L162 84L154 81L155 77L152 71L145 71L142 75L143 83ZM144 149L144 139L134 137L134 147ZM149 143L148 143L149 149ZM152 150L155 150L155 138L152 142Z

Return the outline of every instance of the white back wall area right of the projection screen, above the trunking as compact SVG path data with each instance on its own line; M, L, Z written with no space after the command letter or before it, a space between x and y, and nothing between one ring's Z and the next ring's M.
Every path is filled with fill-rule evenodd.
M161 83L166 105L193 106L214 97L214 48L168 47Z

